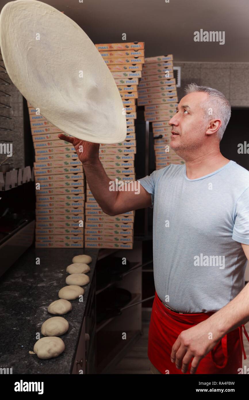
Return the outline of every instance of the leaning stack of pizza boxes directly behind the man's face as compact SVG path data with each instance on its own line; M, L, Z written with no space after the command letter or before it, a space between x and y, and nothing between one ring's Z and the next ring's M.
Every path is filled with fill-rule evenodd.
M168 122L178 102L172 54L145 58L138 95L138 105L145 109L145 120L152 122L156 169L185 164L169 147L171 126Z

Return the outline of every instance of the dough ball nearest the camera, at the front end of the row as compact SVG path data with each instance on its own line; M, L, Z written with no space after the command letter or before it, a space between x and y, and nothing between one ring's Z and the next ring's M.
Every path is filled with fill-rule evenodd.
M47 360L48 358L58 357L65 350L65 344L61 338L50 336L37 340L34 345L34 352L38 358Z

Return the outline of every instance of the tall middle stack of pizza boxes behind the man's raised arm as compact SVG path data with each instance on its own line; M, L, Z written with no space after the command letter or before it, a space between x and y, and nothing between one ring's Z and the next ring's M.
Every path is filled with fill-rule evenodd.
M134 158L136 153L135 119L137 86L144 63L144 43L96 44L117 84L126 114L127 136L118 144L100 144L100 161L114 190L120 181L132 189L135 181ZM129 186L130 185L130 186ZM109 216L105 214L86 184L85 247L133 248L134 211Z

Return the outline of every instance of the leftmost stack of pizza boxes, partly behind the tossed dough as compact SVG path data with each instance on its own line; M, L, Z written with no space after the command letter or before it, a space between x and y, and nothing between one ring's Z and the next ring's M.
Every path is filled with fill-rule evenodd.
M58 138L60 129L29 102L28 111L35 151L35 246L83 248L85 178L82 163L74 146Z

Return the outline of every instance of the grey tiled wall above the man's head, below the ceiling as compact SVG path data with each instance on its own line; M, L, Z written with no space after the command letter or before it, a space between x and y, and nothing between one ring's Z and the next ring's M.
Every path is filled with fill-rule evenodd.
M188 83L209 86L225 94L233 107L249 106L249 63L174 62L181 67L179 101Z

